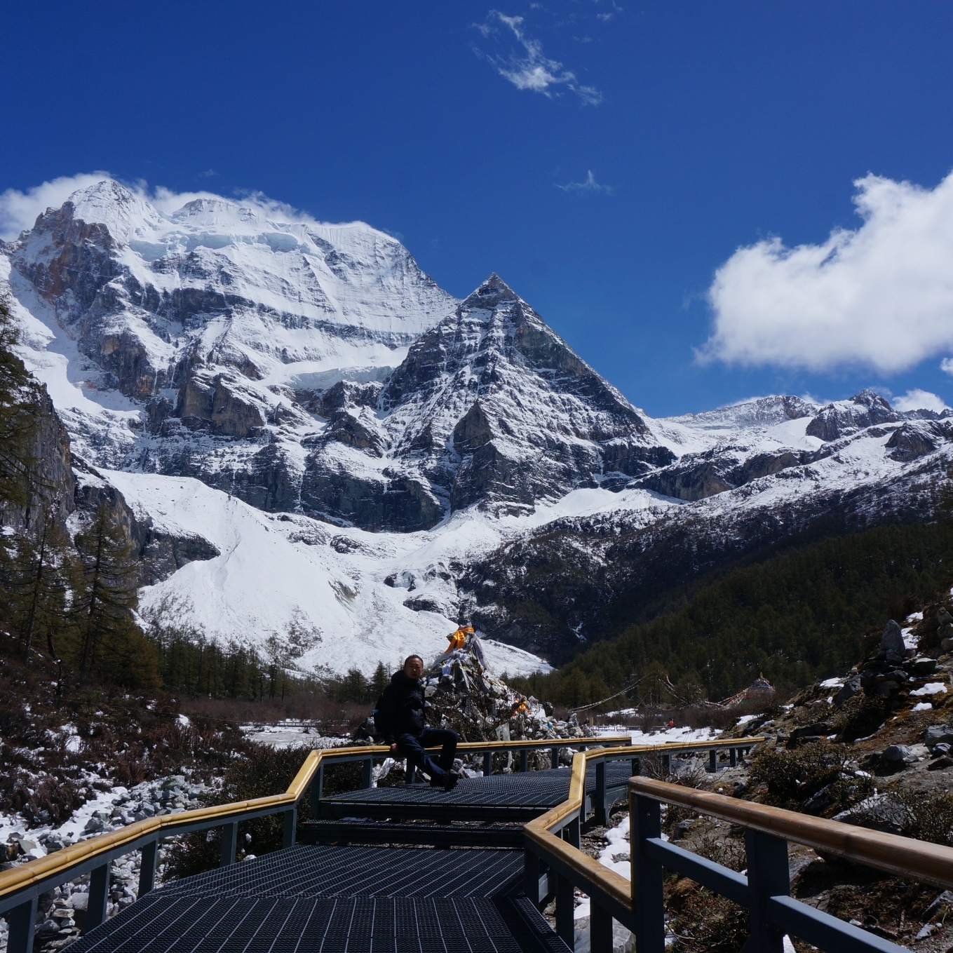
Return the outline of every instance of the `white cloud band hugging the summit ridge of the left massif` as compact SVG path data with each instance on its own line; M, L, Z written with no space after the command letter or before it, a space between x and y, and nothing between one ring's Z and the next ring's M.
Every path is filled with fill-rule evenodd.
M8 189L0 193L0 238L16 238L25 229L33 227L37 215L46 212L48 208L58 209L78 189L85 189L102 182L103 179L112 178L109 172L80 172L77 175L61 175L26 192ZM165 186L156 186L150 190L148 183L142 180L132 185L128 182L123 184L150 202L159 212L167 215L196 198L214 198L252 208L273 221L316 222L312 215L284 202L277 202L260 192L241 193L237 197L228 198L213 192L172 192Z

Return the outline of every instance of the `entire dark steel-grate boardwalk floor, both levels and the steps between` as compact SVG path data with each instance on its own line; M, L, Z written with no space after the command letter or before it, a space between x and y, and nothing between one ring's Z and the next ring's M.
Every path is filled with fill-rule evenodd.
M607 766L611 795L624 796L629 767ZM587 790L595 785L590 773ZM91 930L71 953L566 951L523 894L518 829L492 821L531 820L564 801L568 788L569 771L558 769L467 779L451 792L414 784L325 798L322 819L355 819L339 840L373 843L381 821L390 821L392 842L421 842L429 825L395 822L426 820L436 821L444 841L469 846L298 844L153 890ZM491 822L488 842L499 830L509 848L478 846L473 825L480 821Z

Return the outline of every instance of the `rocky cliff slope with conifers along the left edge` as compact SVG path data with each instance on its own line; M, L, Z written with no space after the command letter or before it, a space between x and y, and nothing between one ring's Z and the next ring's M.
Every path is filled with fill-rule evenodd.
M64 684L235 699L314 690L314 679L295 671L294 633L256 651L182 627L175 606L137 615L141 559L128 521L114 499L74 493L69 436L46 389L14 353L17 337L0 300L3 651L54 663Z

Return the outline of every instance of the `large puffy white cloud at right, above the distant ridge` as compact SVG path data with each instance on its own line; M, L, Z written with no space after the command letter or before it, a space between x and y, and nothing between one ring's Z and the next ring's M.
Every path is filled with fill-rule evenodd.
M718 269L700 360L892 373L953 350L953 173L935 189L855 185L857 230L793 249L760 241Z

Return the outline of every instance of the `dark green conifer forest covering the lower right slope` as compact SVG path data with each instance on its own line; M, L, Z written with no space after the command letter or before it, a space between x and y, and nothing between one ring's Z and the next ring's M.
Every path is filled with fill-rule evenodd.
M606 698L649 672L694 698L723 699L761 674L783 694L842 675L860 659L865 632L887 618L902 623L920 598L949 585L951 568L950 520L824 539L735 569L558 672L513 680L569 706Z

